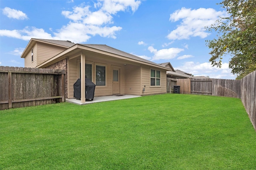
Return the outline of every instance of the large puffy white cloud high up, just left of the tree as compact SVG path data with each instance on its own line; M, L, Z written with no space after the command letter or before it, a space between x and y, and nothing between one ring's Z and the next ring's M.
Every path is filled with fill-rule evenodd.
M170 14L170 21L175 22L182 20L180 25L167 36L168 39L189 39L190 37L205 38L210 33L206 32L205 27L213 24L219 16L228 16L225 11L216 11L212 8L181 8Z

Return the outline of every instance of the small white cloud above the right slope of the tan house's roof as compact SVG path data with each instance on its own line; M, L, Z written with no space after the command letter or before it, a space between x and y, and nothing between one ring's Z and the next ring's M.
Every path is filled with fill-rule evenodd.
M152 61L160 59L173 59L178 55L178 53L184 51L184 49L179 48L161 49L158 51L157 49L154 49L154 47L152 46L148 47L148 50L150 51L150 53L154 53Z

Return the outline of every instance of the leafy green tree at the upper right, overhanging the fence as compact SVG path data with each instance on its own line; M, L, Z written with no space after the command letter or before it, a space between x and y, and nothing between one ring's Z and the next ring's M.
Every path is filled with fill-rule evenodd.
M217 38L207 40L212 49L212 66L221 67L222 57L230 55L229 68L241 79L256 70L256 0L223 0L229 16L220 18L208 31L217 31Z

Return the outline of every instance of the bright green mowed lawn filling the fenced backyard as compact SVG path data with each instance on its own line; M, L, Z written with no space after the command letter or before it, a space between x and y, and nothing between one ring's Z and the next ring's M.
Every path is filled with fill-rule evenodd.
M3 170L256 169L237 98L164 94L0 111Z

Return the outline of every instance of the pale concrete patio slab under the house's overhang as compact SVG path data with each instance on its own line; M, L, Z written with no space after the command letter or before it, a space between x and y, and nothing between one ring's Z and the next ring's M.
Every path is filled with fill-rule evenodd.
M130 95L130 94L124 94L124 95L113 95L113 96L95 96L93 100L86 100L85 103L82 103L81 100L76 100L75 98L66 99L66 102L78 104L78 105L85 105L85 104L91 104L91 103L97 103L97 102L106 102L106 101L112 101L112 100L121 100L121 99L129 99L129 98L138 98L142 97L139 95Z

